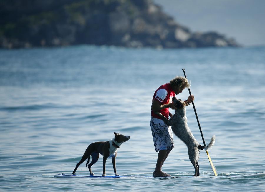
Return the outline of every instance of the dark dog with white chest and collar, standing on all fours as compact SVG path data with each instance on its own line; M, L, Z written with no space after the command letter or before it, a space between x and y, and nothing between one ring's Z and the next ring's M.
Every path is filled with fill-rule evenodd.
M84 155L82 156L81 160L76 164L76 167L73 171L73 175L75 175L75 172L77 168L87 159L86 166L88 167L90 175L94 175L91 171L91 166L94 165L98 158L99 154L103 155L103 174L102 176L106 176L105 168L106 168L106 160L109 157L112 157L112 165L113 165L113 171L116 176L118 176L116 172L116 156L117 156L117 149L120 148L121 144L125 141L128 141L130 139L130 136L124 136L121 134L117 134L114 132L115 137L111 139L110 141L99 141L95 143L91 143ZM92 156L92 161L89 163L90 155ZM89 163L89 164L88 164ZM88 165L87 165L88 164Z

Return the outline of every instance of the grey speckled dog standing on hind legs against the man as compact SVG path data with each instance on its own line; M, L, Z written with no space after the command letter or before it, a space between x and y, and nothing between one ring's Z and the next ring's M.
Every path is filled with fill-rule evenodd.
M194 166L195 174L193 176L200 176L199 173L199 149L200 150L208 150L210 149L214 142L215 142L215 136L212 136L211 141L206 146L201 146L198 141L194 138L193 134L191 133L191 130L187 124L187 117L186 117L186 104L184 101L177 99L175 97L172 98L172 101L174 102L174 105L176 108L175 114L168 120L165 118L161 113L157 113L160 117L163 118L166 124L171 125L173 133L180 138L181 141L183 141L186 146L188 147L188 154L189 159Z

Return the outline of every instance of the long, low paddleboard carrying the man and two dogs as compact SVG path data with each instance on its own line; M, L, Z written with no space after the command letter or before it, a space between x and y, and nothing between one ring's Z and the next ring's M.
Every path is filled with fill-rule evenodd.
M265 176L265 172L263 173L253 173L253 174L242 174L242 175L220 175L220 176L199 176L199 177L193 177L193 176L171 176L169 178L202 178L202 177L208 177L208 178L239 178L239 177L263 177ZM121 175L121 176L96 176L96 175L67 175L67 174L57 174L54 175L56 178L139 178L139 177L145 177L145 178L153 178L153 175ZM159 177L161 178L161 177Z

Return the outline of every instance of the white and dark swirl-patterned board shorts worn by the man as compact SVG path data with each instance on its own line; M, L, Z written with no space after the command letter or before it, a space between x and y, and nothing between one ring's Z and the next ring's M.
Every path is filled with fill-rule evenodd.
M174 148L171 126L165 124L162 119L154 117L151 117L150 126L156 152L160 150L171 150Z

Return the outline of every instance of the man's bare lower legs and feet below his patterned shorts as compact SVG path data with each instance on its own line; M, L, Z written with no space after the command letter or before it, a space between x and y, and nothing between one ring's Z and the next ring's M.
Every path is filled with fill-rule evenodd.
M153 173L154 177L170 177L167 173L164 173L162 171L162 165L165 162L166 158L168 157L168 154L170 153L171 150L160 150L158 152L157 156L157 162L155 166L155 171Z

